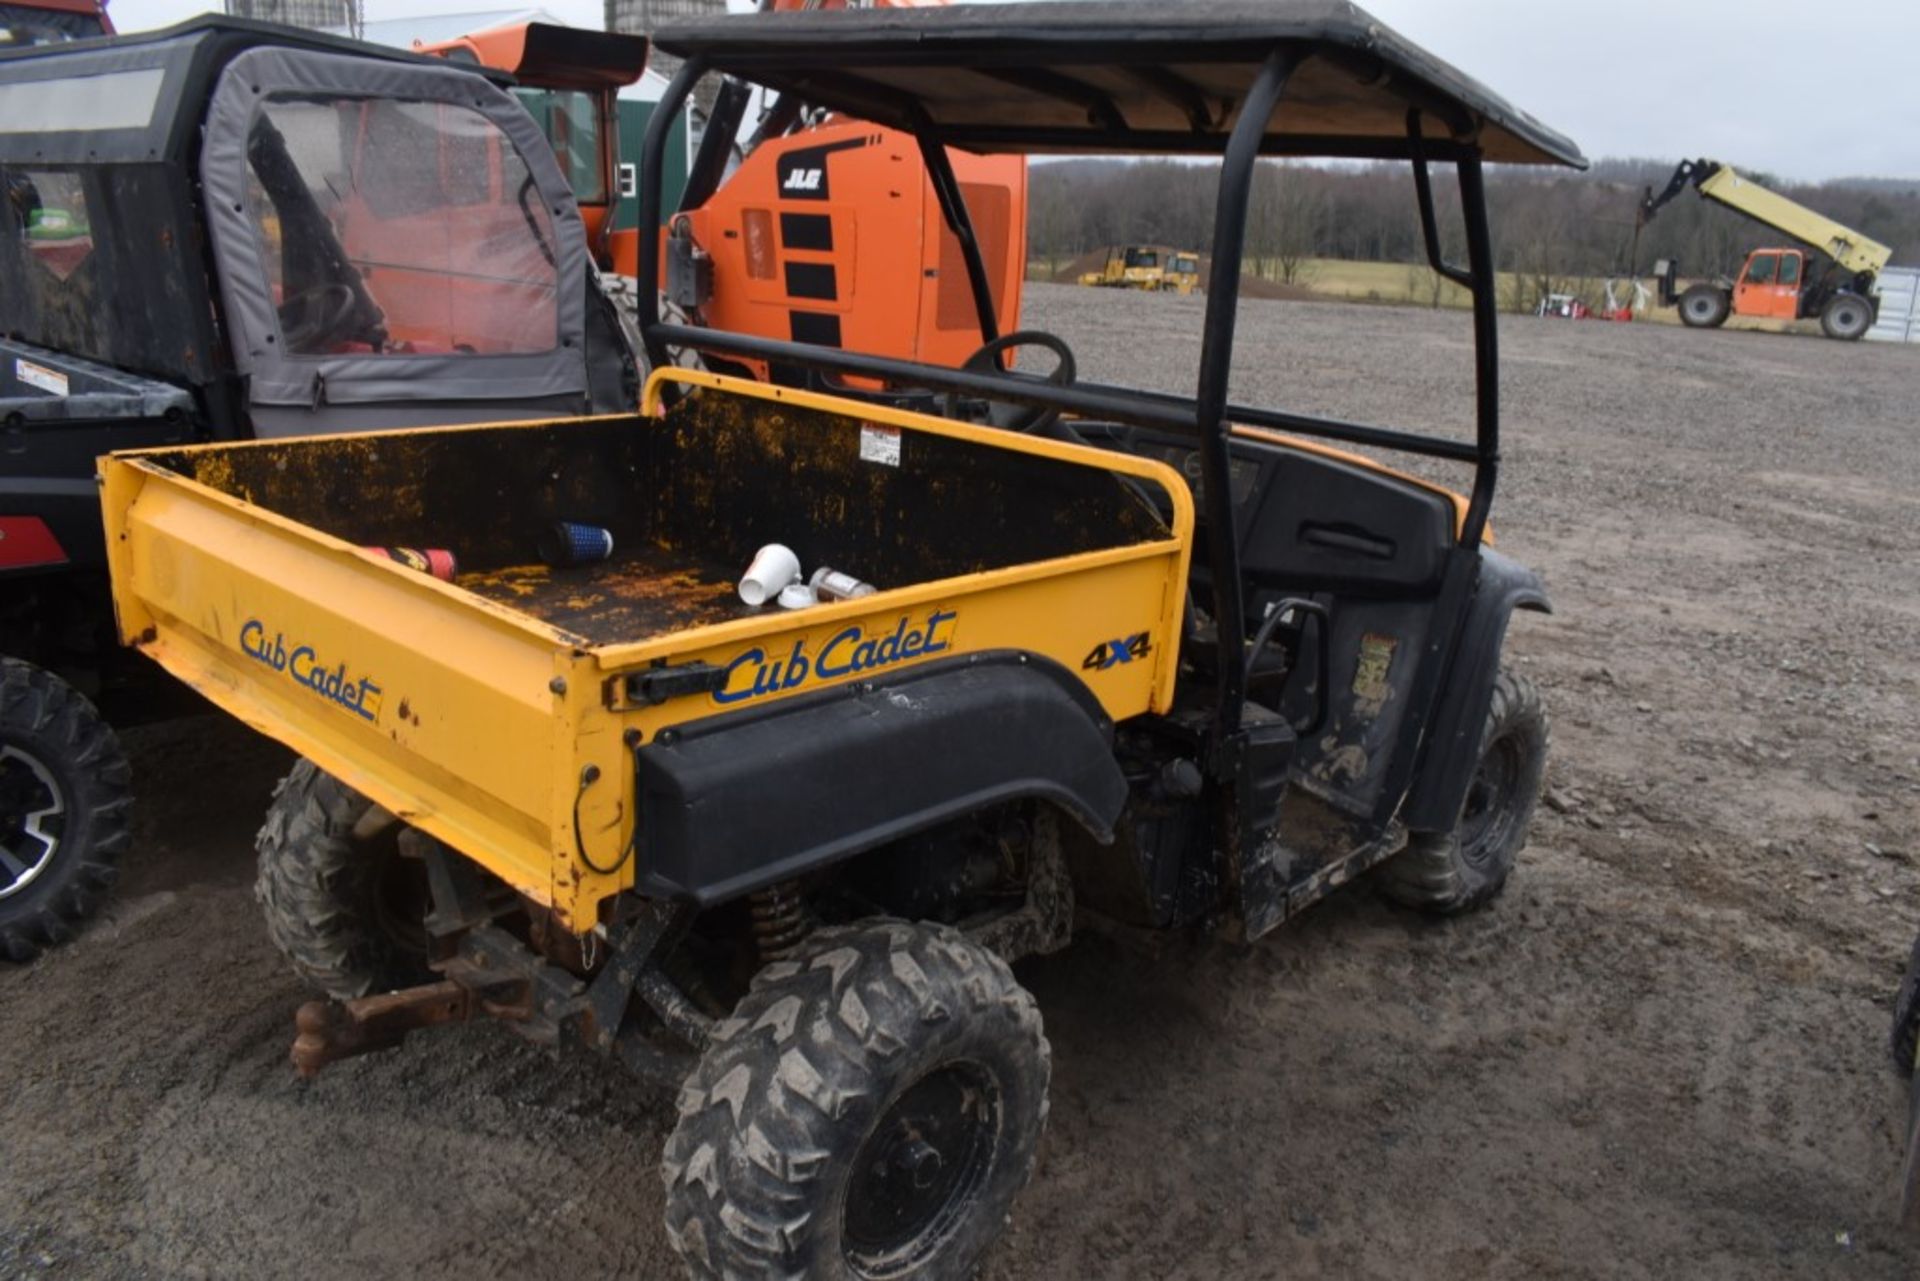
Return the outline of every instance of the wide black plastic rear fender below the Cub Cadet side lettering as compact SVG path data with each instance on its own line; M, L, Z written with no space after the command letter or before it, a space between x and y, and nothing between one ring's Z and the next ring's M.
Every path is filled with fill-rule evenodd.
M1018 799L1114 839L1114 722L1068 668L983 651L662 730L634 751L636 889L726 903Z

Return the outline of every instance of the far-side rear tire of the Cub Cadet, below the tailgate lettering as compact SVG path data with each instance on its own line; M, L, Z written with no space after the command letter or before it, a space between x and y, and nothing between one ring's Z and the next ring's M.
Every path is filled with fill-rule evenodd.
M294 972L338 1001L394 991L426 970L424 878L399 853L405 824L300 761L259 830L253 897Z

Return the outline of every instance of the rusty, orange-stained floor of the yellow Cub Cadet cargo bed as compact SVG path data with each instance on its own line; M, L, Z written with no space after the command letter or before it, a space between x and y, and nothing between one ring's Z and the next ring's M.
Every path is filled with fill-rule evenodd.
M685 553L643 547L597 565L509 565L453 582L593 645L618 645L760 615L741 603L737 572Z

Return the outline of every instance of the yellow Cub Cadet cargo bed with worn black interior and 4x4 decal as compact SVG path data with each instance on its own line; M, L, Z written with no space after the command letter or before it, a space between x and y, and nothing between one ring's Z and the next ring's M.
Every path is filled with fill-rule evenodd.
M687 396L659 411L668 380ZM1112 720L1169 705L1192 542L1173 471L687 371L647 405L115 455L121 632L576 930L647 883L634 753L662 730L1008 651ZM614 555L547 568L555 519ZM770 542L879 592L751 609L733 584ZM369 547L449 549L459 574ZM1127 661L1100 659L1114 641Z

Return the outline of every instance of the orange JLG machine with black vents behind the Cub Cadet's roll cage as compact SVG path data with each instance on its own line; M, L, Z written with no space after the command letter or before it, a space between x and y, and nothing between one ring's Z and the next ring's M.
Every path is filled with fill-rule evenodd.
M874 0L874 8L937 4L947 0ZM847 0L762 4L843 8ZM616 96L639 79L645 40L520 23L417 50L509 71L551 94L541 123L572 177L593 257L603 271L636 277L641 236L611 227L620 196ZM755 106L760 117L749 134ZM1014 330L1027 259L1025 159L950 156L973 211L998 332ZM914 140L785 98L756 104L737 83L722 85L712 104L662 250L668 303L693 325L935 365L962 365L983 342L966 255ZM801 380L762 361L726 373Z

